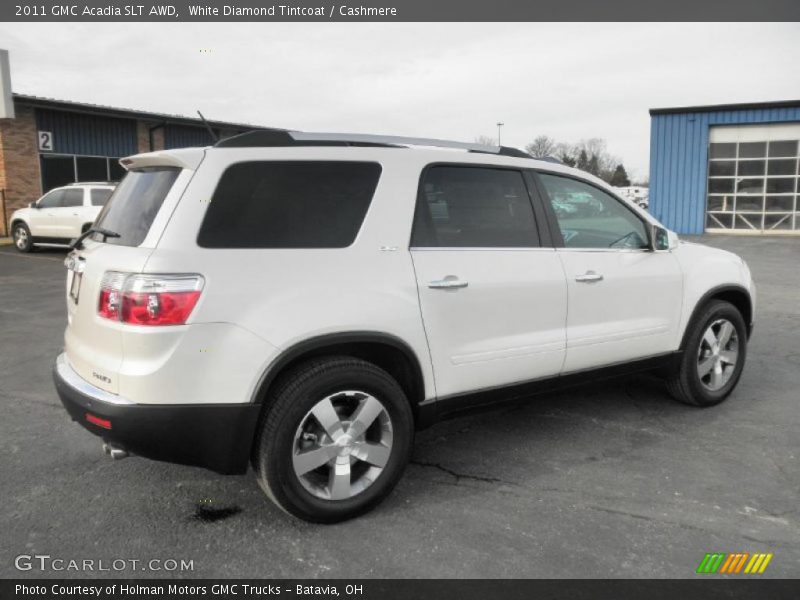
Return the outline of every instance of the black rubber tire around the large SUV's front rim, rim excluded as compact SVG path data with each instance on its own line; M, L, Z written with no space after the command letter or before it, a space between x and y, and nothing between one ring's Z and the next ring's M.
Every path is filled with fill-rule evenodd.
M738 358L733 375L719 390L709 390L700 381L697 374L697 353L700 343L709 325L717 319L727 319L736 329L739 339ZM714 406L725 400L736 384L744 370L745 360L747 359L747 326L745 325L742 314L729 302L716 301L710 304L692 323L692 331L687 339L684 349L684 357L681 376L685 379L691 390L692 396L698 406Z

